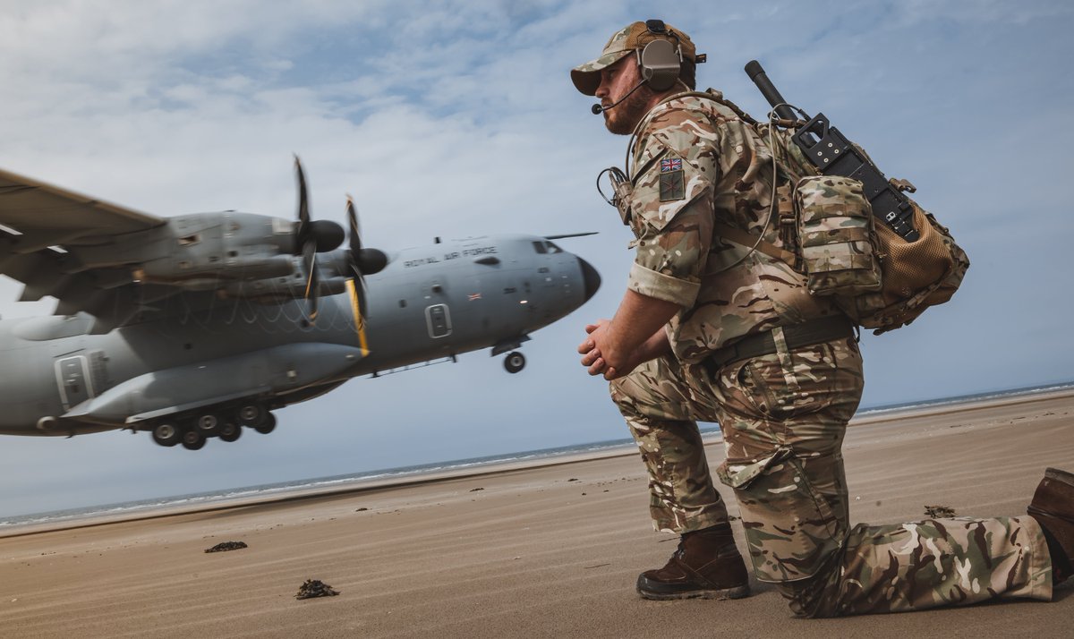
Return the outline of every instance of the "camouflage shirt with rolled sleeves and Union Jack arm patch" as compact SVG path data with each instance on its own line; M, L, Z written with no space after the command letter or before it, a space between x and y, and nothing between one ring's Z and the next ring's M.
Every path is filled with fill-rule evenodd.
M719 92L674 96L651 111L632 149L630 227L637 239L628 288L683 308L667 325L676 355L697 363L750 334L834 315L803 275L721 226L782 246L773 165L764 126L754 128ZM781 171L782 183L786 176Z

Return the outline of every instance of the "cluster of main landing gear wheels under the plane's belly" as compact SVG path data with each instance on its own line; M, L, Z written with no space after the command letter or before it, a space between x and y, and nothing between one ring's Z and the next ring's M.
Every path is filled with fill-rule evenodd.
M182 444L187 450L199 450L209 437L223 441L235 441L243 434L243 426L267 435L276 427L276 416L263 404L250 402L227 410L170 417L150 426L153 440L160 446L172 447Z

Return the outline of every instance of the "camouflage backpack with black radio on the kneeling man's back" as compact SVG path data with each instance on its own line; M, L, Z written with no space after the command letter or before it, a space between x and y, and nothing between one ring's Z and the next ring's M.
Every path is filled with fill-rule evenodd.
M767 125L719 95L710 97L769 141L773 179L781 173L789 178L777 189L773 212L783 246L741 237L743 231L724 226L717 232L790 264L807 275L812 294L830 295L876 335L950 300L970 261L947 228L904 194L914 192L913 185L886 179L824 114L799 119L756 61L746 72L773 106Z

